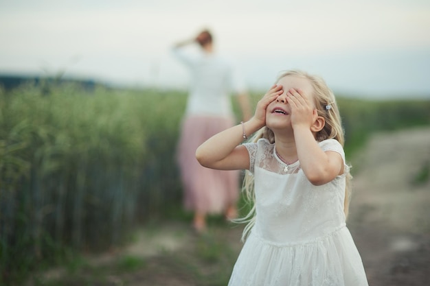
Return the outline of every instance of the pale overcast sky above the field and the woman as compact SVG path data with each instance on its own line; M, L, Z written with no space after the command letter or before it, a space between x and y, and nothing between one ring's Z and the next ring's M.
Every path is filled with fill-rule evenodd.
M170 47L203 27L249 88L302 69L340 93L430 98L428 0L0 0L0 73L186 87Z

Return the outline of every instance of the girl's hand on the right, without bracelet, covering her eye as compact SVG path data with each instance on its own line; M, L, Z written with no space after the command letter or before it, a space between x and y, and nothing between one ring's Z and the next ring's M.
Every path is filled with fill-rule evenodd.
M310 128L317 118L317 109L314 108L308 96L301 89L291 88L287 93L287 101L291 108L291 125L293 128L304 126Z

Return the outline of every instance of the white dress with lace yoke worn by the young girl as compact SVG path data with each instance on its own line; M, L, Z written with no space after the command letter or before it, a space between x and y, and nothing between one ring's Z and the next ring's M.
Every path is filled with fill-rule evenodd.
M240 252L229 286L368 285L343 213L345 172L310 184L297 161L285 165L266 139L245 143L256 191L256 224ZM319 143L345 154L340 143ZM287 167L287 168L286 168Z

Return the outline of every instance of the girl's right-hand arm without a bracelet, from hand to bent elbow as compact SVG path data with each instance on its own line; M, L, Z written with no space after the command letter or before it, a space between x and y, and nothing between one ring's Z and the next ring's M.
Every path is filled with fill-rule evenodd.
M315 132L321 130L325 122L317 115L308 97L294 89L287 95L300 166L312 184L326 184L343 173L343 159L337 152L321 150L315 140Z

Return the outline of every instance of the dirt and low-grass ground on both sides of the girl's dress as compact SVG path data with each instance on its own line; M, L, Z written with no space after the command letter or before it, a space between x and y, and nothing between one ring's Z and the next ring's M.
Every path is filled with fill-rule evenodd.
M430 285L430 128L375 134L352 165L347 224L369 285ZM222 219L212 219L205 235L185 222L151 224L122 250L30 284L227 285L241 233Z

